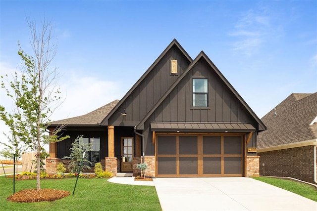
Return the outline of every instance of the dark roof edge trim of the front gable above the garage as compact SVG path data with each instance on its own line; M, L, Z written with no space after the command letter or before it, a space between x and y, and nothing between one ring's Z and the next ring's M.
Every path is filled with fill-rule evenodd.
M252 111L249 105L242 99L242 97L238 94L238 92L233 88L233 86L226 80L226 78L221 74L218 68L211 62L209 57L201 51L200 54L194 59L194 61L187 67L187 69L179 76L175 82L169 87L169 89L162 95L159 101L153 106L153 108L148 112L148 114L141 120L138 124L137 129L142 129L145 121L149 119L149 117L155 112L155 110L159 107L159 105L163 102L163 100L170 94L170 92L179 84L179 82L187 75L187 73L192 69L192 67L200 60L205 59L205 61L211 66L211 68L215 71L215 73L219 76L219 78L227 85L227 87L232 91L232 93L238 98L238 100L242 103L242 105L247 109L247 111L252 115L252 117L259 123L259 130L265 130L266 127L263 122L259 119L259 117Z

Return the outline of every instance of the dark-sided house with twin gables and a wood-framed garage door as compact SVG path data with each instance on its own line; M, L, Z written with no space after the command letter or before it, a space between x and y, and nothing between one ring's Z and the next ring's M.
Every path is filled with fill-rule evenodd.
M70 139L50 144L49 166L84 135L89 159L113 175L257 176L257 135L265 126L202 51L194 60L173 40L120 101L56 121Z

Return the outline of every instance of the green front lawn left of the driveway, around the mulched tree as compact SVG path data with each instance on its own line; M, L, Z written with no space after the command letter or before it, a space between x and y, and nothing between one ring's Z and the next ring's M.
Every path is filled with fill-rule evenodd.
M13 194L13 178L0 177L1 211L160 211L154 186L124 185L107 179L79 178L74 196L76 178L42 179L41 188L67 190L70 195L53 202L16 203L6 199ZM15 192L35 189L36 180L16 180Z

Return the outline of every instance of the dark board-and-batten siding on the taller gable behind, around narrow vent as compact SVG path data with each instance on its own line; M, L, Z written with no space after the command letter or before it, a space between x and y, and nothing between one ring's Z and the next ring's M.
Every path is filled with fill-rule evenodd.
M177 60L177 74L170 73L171 60ZM115 113L108 119L108 125L136 126L154 104L162 97L167 89L184 72L191 61L180 51L177 46L172 46L160 59L145 79L132 91ZM120 113L128 114L124 118Z

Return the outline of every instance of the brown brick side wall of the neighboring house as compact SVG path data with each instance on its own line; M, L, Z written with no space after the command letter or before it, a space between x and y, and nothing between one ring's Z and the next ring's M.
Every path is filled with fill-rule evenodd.
M260 175L286 176L314 183L314 146L258 153Z

